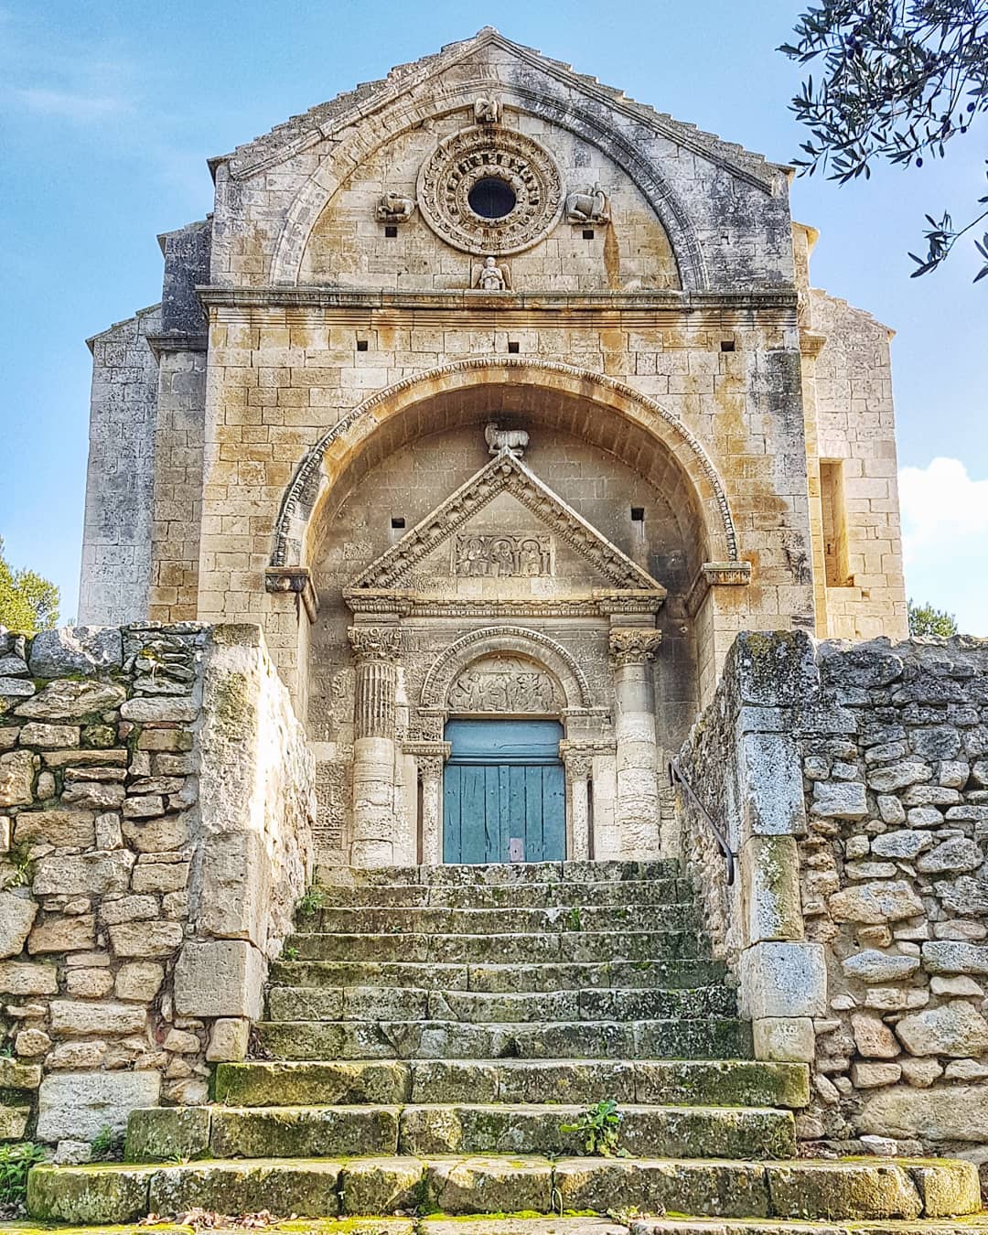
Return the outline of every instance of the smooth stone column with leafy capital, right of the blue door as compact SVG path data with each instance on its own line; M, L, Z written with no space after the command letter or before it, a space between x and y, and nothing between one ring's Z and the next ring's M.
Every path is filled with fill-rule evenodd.
M610 631L618 742L615 825L625 857L658 851L659 808L656 779L656 699L652 661L662 640L653 626L615 626Z

